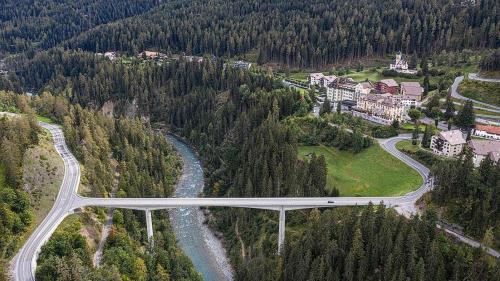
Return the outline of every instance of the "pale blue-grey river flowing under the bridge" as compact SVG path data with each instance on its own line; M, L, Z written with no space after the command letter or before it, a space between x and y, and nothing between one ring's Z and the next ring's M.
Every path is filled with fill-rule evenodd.
M205 183L200 161L185 143L172 135L166 137L183 160L183 172L174 197L197 197ZM204 215L199 208L172 209L170 220L179 246L205 281L233 280L226 251L220 240L203 223Z

